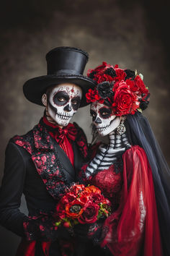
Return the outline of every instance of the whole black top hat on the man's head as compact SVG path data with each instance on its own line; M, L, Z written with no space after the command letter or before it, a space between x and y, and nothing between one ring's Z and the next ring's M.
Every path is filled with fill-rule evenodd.
M35 77L23 85L25 97L38 105L42 105L42 94L53 85L71 82L83 91L81 106L86 106L86 93L94 88L94 81L83 75L89 57L85 51L73 47L57 47L46 55L48 74Z

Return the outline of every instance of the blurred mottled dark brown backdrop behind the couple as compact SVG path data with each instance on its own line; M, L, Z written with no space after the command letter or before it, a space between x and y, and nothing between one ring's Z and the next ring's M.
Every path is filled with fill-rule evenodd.
M87 51L85 73L107 61L144 75L151 91L144 115L170 163L168 1L1 1L0 46L0 182L9 138L32 129L43 112L24 98L22 85L46 74L45 54L56 46ZM79 110L74 120L84 127L90 141L89 107ZM21 209L27 212L24 200ZM0 255L15 255L19 237L4 228L0 228L0 237Z

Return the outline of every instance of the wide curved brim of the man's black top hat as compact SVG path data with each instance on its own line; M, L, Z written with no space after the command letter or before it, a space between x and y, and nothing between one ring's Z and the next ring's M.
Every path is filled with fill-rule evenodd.
M88 105L86 103L86 93L90 88L94 88L95 82L91 80L89 77L84 77L83 75L74 75L74 74L66 74L66 75L45 75L41 77L35 77L23 85L24 96L28 101L35 103L37 105L43 106L42 104L42 95L46 92L46 90L54 85L59 85L64 82L70 82L75 85L78 85L82 89L82 98L80 108Z

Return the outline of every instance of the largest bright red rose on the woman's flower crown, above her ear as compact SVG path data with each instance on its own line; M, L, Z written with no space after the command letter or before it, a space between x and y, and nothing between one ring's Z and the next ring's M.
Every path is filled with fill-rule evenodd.
M114 103L112 108L115 115L122 116L126 114L135 114L139 108L140 102L137 95L135 95L128 87L126 82L121 81L119 87L115 91Z

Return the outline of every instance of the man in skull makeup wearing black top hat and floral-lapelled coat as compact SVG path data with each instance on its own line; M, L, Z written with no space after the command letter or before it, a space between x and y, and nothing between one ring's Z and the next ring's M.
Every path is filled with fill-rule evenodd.
M86 106L94 82L84 77L88 54L58 47L46 55L48 74L25 82L25 97L45 106L39 124L26 135L14 136L6 148L0 192L0 222L22 236L17 255L73 255L68 229L55 226L55 205L87 155L84 132L69 121ZM29 216L19 210L24 193Z

